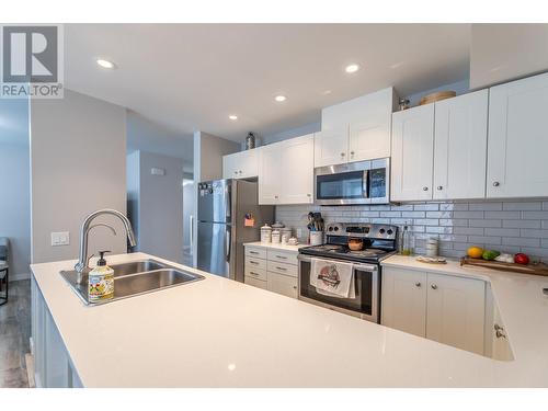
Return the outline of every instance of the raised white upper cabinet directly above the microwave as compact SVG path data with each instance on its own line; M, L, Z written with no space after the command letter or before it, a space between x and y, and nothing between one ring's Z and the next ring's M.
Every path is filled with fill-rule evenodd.
M390 157L396 102L393 89L388 88L323 109L321 132L316 134L315 165Z

